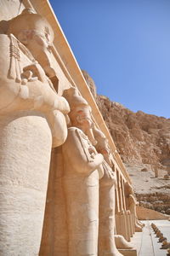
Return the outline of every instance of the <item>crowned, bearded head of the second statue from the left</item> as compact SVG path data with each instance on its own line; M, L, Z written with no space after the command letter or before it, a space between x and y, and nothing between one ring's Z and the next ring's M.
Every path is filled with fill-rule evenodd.
M81 129L89 138L93 145L96 144L93 134L94 122L92 120L92 110L88 102L80 95L75 87L64 91L65 99L69 102L71 112L69 117L71 125Z

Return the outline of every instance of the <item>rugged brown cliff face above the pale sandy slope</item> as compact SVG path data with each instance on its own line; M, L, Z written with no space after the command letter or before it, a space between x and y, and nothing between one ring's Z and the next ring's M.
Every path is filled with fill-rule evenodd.
M125 163L170 167L170 119L123 107L97 96L99 109Z

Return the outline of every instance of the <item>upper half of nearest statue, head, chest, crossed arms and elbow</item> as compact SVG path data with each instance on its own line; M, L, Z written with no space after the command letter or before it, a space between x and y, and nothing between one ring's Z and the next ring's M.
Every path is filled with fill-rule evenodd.
M47 20L31 9L8 21L7 35L0 35L0 113L41 111L48 119L56 147L65 141L69 106L48 79L54 76L50 52L53 39Z

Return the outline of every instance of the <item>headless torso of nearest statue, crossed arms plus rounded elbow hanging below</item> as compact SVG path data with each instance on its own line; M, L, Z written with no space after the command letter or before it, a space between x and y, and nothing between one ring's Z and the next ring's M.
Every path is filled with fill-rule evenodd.
M53 146L64 143L67 135L65 114L70 111L65 98L59 96L42 67L33 59L23 44L11 36L20 46L18 55L5 54L10 40L7 35L0 35L0 114L36 110L48 119ZM15 51L14 51L15 53Z

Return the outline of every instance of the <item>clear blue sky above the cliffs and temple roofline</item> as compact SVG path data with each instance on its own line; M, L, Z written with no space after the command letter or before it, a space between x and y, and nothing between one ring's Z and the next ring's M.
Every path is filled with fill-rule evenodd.
M169 0L49 0L98 93L170 118Z

